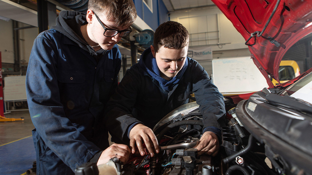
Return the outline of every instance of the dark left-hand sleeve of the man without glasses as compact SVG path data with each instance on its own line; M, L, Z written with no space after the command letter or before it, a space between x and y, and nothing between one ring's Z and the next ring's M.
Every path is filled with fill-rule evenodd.
M139 122L132 114L139 86L141 84L139 71L134 67L127 70L124 78L119 83L115 94L107 104L105 124L112 137L117 137L129 144L128 129L135 122Z

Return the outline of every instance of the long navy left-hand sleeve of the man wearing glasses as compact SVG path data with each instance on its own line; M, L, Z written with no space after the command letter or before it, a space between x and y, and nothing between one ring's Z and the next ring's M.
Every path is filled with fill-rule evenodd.
M26 92L32 122L45 144L73 171L100 149L66 118L56 78L56 43L38 36L32 47Z

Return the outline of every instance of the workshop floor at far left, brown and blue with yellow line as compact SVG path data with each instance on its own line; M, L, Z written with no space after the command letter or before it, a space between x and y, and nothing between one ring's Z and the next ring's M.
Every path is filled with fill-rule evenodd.
M12 111L4 116L24 120L0 122L0 172L7 175L24 175L36 161L32 141L32 130L35 127L29 111Z

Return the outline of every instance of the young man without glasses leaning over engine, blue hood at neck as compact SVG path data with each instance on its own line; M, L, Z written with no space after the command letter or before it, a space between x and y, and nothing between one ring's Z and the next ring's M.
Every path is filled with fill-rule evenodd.
M178 22L161 24L154 34L154 45L146 49L108 102L106 124L112 137L118 137L143 156L144 141L151 157L159 152L153 128L170 111L188 103L194 92L203 115L203 135L196 146L198 154L215 156L218 136L225 123L222 94L197 61L187 57L189 35ZM117 127L116 127L117 126ZM154 147L154 148L153 148Z

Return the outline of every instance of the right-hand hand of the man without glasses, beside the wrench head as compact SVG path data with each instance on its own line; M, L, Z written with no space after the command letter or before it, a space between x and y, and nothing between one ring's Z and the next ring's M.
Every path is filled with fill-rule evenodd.
M204 132L199 140L199 144L195 148L198 151L198 155L205 153L216 156L220 149L217 135L211 131Z

